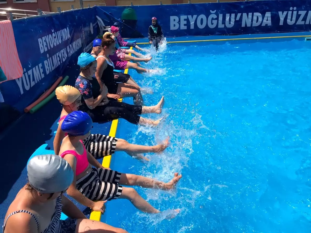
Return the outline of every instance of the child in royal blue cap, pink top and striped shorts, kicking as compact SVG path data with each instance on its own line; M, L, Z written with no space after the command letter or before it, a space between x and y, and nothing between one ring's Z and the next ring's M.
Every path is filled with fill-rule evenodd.
M59 154L70 164L74 172L74 179L67 194L94 211L103 212L105 200L121 198L128 199L142 212L159 213L160 211L152 207L136 190L121 185L171 190L182 177L175 172L173 179L165 183L103 167L86 151L82 143L92 128L92 119L86 112L74 111L68 114L61 127L67 136L63 139Z

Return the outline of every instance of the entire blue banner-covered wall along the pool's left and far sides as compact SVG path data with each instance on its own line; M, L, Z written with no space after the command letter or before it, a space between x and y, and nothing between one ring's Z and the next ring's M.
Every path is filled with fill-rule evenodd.
M105 25L122 22L123 38L146 37L151 17L156 16L165 37L187 40L188 36L310 31L309 8L309 0L91 7L14 20L24 74L1 83L0 91L5 103L23 112L76 64L81 52L91 49L100 32L96 16Z

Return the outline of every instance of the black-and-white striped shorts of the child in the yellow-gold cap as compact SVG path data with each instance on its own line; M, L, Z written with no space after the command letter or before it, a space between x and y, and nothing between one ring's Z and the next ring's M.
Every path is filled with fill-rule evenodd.
M94 158L101 158L114 153L117 146L117 138L102 134L90 134L83 140L83 144Z

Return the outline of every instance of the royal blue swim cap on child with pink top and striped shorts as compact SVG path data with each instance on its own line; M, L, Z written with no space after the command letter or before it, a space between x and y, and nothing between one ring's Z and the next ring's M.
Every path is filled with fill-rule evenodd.
M72 136L83 136L90 132L92 124L93 121L86 112L74 111L65 117L62 130Z

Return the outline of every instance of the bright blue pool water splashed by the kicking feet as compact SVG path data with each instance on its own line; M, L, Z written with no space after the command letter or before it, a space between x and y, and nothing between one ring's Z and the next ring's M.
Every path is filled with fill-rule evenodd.
M146 105L165 95L169 116L155 129L121 119L117 136L149 145L169 135L171 145L146 155L148 164L116 153L111 167L164 181L181 173L175 191L136 188L156 208L181 212L166 220L169 211L115 200L102 221L136 233L310 231L311 42L241 42L167 44L146 65L158 74L130 71L154 90Z

